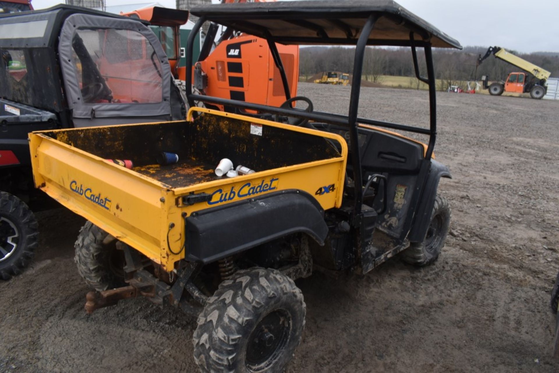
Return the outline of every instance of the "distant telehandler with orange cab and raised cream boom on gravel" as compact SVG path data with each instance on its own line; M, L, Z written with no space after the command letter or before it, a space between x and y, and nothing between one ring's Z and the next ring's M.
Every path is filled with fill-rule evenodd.
M489 77L484 75L481 77L484 89L489 89L492 96L500 96L503 92L517 92L517 93L530 93L530 97L541 99L546 95L547 79L551 73L527 60L520 58L517 55L506 51L504 48L498 46L490 46L484 56L479 55L477 59L477 66L479 66L490 55L494 55L505 62L516 66L524 72L510 73L506 81L499 81L488 85Z

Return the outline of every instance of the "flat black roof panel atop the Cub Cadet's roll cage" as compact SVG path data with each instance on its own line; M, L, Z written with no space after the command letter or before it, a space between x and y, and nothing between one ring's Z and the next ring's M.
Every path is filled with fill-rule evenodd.
M192 8L234 30L271 37L283 44L356 44L367 18L378 18L371 45L410 45L414 39L433 47L462 49L460 43L392 0L310 0L226 3Z

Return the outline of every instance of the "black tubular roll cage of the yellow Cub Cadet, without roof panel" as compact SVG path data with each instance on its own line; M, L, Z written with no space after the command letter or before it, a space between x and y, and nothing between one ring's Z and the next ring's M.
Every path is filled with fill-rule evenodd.
M228 100L225 98L195 95L192 93L192 74L186 74L186 97L188 100L188 105L190 107L195 107L195 101L203 101L214 103L217 105L227 105L249 110L257 110L261 112L268 112L271 114L279 114L297 117L301 119L309 119L317 122L324 122L333 125L346 126L349 129L350 136L350 150L352 154L359 154L359 141L358 141L358 125L359 123L375 125L383 128L389 128L394 130L409 131L412 133L418 133L423 135L429 135L429 143L427 146L427 151L424 154L425 160L430 160L433 155L433 149L435 147L435 140L437 139L437 102L436 102L436 89L435 89L435 73L433 68L433 54L431 49L431 43L424 40L415 40L415 32L411 31L409 40L369 40L369 35L373 31L375 22L383 15L382 12L372 12L368 17L366 23L363 26L363 30L359 38L356 39L340 39L340 38L330 38L324 37L325 35L319 34L320 37L273 37L269 32L265 32L266 40L268 46L272 53L272 58L276 67L280 70L280 75L282 78L283 89L285 90L286 100L291 98L290 91L287 83L287 75L283 69L283 63L278 53L276 43L307 43L307 44L330 44L330 45L356 45L355 58L353 63L353 81L351 86L350 101L349 101L349 112L347 116L339 114L330 114L327 112L305 112L303 110L297 110L296 108L280 108L267 105L260 105L255 103ZM201 16L198 18L195 26L193 27L190 35L188 36L187 51L186 51L186 65L192 66L192 55L195 37L200 31L204 22L206 22L207 17ZM300 21L297 21L300 22ZM326 35L327 36L327 35ZM421 82L428 84L429 86L429 129L396 124L386 121L378 121L371 119L363 119L357 116L359 108L359 93L361 92L361 76L363 70L363 58L365 53L365 48L368 45L387 45L387 46L409 46L411 48L411 54L414 63L415 76ZM425 62L427 64L427 78L421 77L419 72L419 63L416 48L423 47L425 52ZM355 193L355 209L354 214L361 214L363 196L362 187L363 179L361 172L361 158L352 157L352 167L353 167L353 180L356 188ZM424 169L424 167L422 167ZM427 170L425 169L425 172ZM420 173L425 173L420 172ZM416 204L412 204L415 206ZM408 222L406 222L408 223ZM411 221L409 221L409 224ZM406 224L408 225L408 224Z

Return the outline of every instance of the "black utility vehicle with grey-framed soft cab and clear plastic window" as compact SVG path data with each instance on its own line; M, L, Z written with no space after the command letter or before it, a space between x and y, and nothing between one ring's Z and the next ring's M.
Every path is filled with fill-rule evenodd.
M0 279L37 247L27 134L179 120L185 106L146 22L59 5L0 15ZM28 206L29 205L29 206Z

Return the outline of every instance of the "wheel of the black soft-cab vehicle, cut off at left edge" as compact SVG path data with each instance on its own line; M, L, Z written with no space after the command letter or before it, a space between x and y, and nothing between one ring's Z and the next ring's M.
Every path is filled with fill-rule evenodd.
M29 265L39 244L38 228L25 202L0 192L0 280L10 280Z

